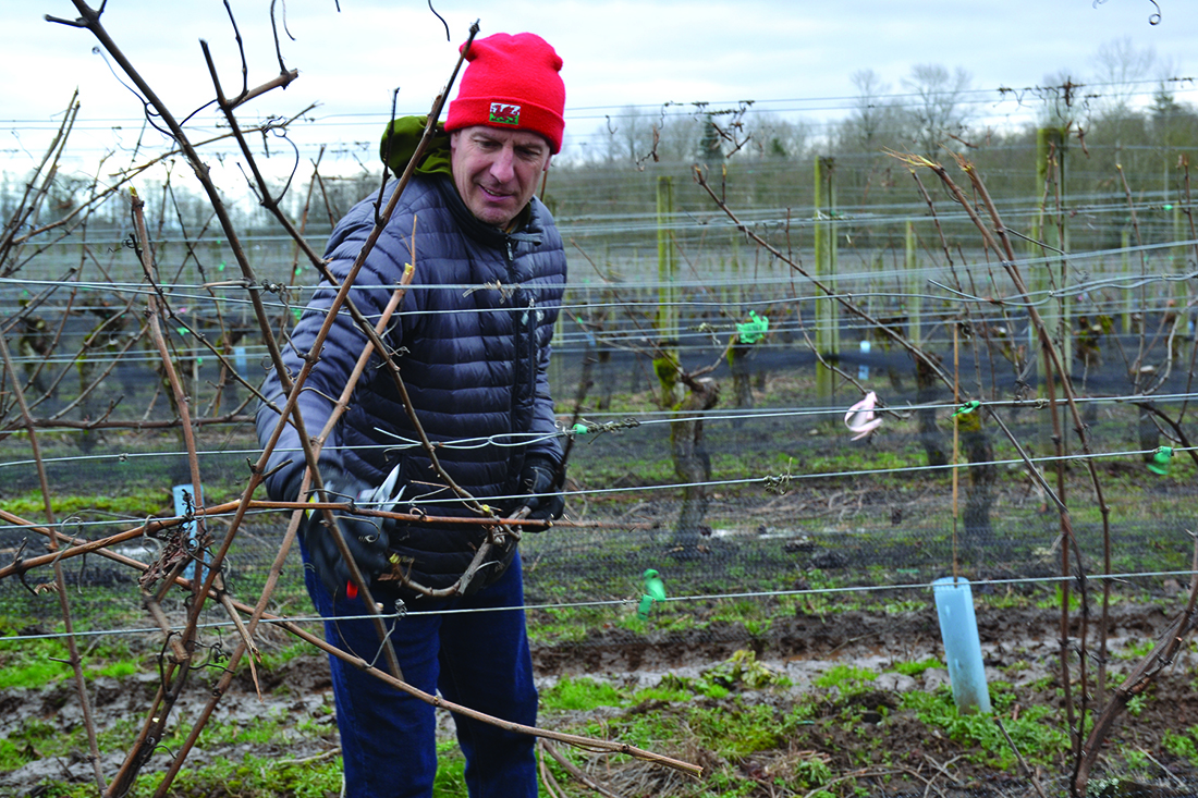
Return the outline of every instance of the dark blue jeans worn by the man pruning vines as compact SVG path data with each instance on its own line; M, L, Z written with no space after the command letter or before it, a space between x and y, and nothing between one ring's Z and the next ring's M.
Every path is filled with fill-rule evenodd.
M304 561L307 563L307 551ZM359 598L332 606L327 591L304 568L308 593L325 621L328 642L387 670L379 635L369 619L337 621L334 615L363 615ZM383 612L395 611L385 600ZM388 619L391 641L412 687L489 715L533 726L537 688L524 610L441 615L429 610L470 610L524 605L519 554L500 580L465 598L409 603L409 612ZM334 612L335 610L335 612ZM329 657L337 727L345 762L349 798L430 798L437 769L436 719L428 703ZM466 756L471 798L537 798L536 739L454 715L458 743Z

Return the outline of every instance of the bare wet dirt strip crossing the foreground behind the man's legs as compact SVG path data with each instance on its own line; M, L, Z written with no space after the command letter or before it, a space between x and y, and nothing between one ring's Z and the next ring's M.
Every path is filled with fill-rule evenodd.
M1170 610L1172 612L1172 610ZM1126 672L1136 659L1132 649L1144 651L1155 641L1170 621L1170 612L1156 604L1118 604L1111 615L1111 671ZM1079 617L1070 630L1071 648L1076 649ZM978 611L979 634L986 663L987 678L1015 685L1024 706L1060 701L1059 682L1060 631L1059 612L1055 610L1017 609ZM1194 690L1196 660L1193 646L1187 646L1151 690L1151 701L1136 718L1125 718L1114 733L1114 739L1133 738L1143 750L1161 761L1173 776L1188 776L1190 763L1170 758L1161 746L1166 732L1181 732L1198 725L1198 691ZM909 690L934 690L944 684L948 673L943 669L930 669L912 677L894 672L896 663L921 661L940 657L939 628L934 609L903 613L842 612L835 615L798 613L775 619L767 635L752 636L739 624L713 624L685 633L659 633L637 635L623 629L606 629L585 641L534 646L533 660L538 681L547 688L563 676L589 676L627 687L652 687L666 675L698 676L704 670L726 661L734 652L751 649L758 663L785 673L792 687L782 694L751 691L742 694L743 701L770 701L780 705L795 703L816 688L813 682L836 665L852 664L879 673L871 690L857 695L853 701L870 703L863 718L875 721L871 734L884 740L883 748L898 752L900 761L910 769L926 766L926 761L945 762L962 751L948 739L928 737L927 727L913 717L890 711L900 706L900 694ZM1076 659L1076 658L1075 658ZM1075 669L1076 678L1076 669ZM218 673L198 672L194 684L184 693L176 713L179 718L195 718L210 697L210 687ZM157 690L157 675L141 673L121 681L97 678L92 683L92 702L97 726L101 731L119 723L138 723L150 706ZM190 762L202 763L218 757L241 757L244 752L261 756L279 756L301 760L328 754L337 746L333 721L328 666L323 657L304 655L289 660L277 669L258 671L262 690L258 697L248 670L235 679L232 689L222 700L213 723L241 724L254 718L285 712L294 718L310 718L320 729L319 736L297 736L291 740L258 746L205 748L194 750ZM700 697L704 701L707 699ZM828 699L835 707L835 696ZM830 712L831 709L829 709ZM885 715L885 721L881 723ZM81 723L81 713L73 687L60 683L32 690L7 690L0 694L0 737L7 738L26 727L31 720L49 724L56 730L69 732ZM545 717L543 723L565 724L579 721L576 717ZM823 751L830 766L851 769L854 763L845 751L852 750L853 739L837 739L845 734L835 725L823 725L812 730L801 743L804 749ZM1063 763L1066 752L1063 752ZM780 754L781 755L781 754ZM702 758L703 754L696 756ZM103 768L113 773L125 757L123 751L103 754ZM156 751L146 764L149 770L162 769L169 758L168 751ZM768 760L768 757L767 757ZM755 766L763 773L776 767L769 761ZM751 763L750 763L751 764ZM750 767L740 763L740 767ZM859 766L859 763L857 763ZM970 769L964 760L955 764L958 788L969 786L973 793L998 790L1011 774L990 774L982 769ZM1061 774L1058 774L1058 776ZM0 774L0 794L32 796L46 778L87 780L91 766L83 752L67 757L44 757L24 767ZM647 776L641 776L647 778ZM1052 774L1046 775L1051 780ZM894 784L894 781L891 781ZM1025 781L1023 782L1027 784ZM666 788L667 785L660 785ZM918 779L912 788L922 790ZM954 787L954 781L944 779L944 788ZM980 791L980 792L979 792ZM1002 792L996 794L1003 794ZM1182 792L1158 794L1184 794Z

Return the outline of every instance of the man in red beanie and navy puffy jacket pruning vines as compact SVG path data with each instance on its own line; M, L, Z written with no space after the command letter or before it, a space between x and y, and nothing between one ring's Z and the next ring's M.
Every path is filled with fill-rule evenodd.
M562 513L562 449L556 435L546 365L565 283L561 236L533 197L562 145L565 90L562 61L532 34L497 34L473 42L444 133L422 158L411 183L350 292L376 322L405 264L415 279L392 318L385 341L419 427L436 445L446 474L500 514L528 508L532 518ZM383 139L387 165L403 171L422 120L398 120ZM382 201L386 204L388 187ZM338 279L349 272L374 226L374 197L337 225L326 256ZM415 228L415 229L413 229ZM291 335L286 363L297 373L331 306L335 288L316 291ZM309 435L329 418L367 338L343 310L300 399ZM282 405L277 377L265 394ZM265 441L278 415L259 409ZM399 391L377 355L355 387L350 407L320 455L326 489L337 496L398 497L398 510L477 518L432 467ZM267 480L274 498L300 497L304 474L288 427L270 467L292 459ZM290 451L288 451L290 449ZM392 484L393 483L393 484ZM486 540L479 525L373 525L338 519L345 542L388 619L410 684L504 720L533 725L537 691L520 609L520 556L510 536L470 582L466 594L429 598L454 585ZM302 537L305 580L331 642L370 663L383 663L371 622L320 513ZM353 798L431 796L436 772L430 706L331 659L346 794ZM455 717L466 756L470 794L537 794L533 738Z

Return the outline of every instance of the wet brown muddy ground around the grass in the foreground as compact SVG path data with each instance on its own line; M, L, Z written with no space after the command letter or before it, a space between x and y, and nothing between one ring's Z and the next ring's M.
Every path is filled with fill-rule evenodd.
M1114 673L1127 672L1138 661L1131 648L1144 649L1145 641L1156 640L1167 628L1172 617L1180 611L1184 598L1168 601L1168 611L1162 604L1120 603L1112 609L1109 634ZM1015 685L1017 701L1014 712L1029 706L1061 706L1058 694L1059 673L1059 611L1040 609L986 609L979 607L978 622L982 640L987 677L991 682L1004 681ZM1075 615L1075 624L1079 617ZM1071 629L1075 640L1078 628ZM805 615L778 619L770 633L762 637L750 637L740 627L714 627L686 634L655 634L639 636L610 629L591 639L568 646L540 646L533 651L540 685L550 687L563 676L587 675L622 685L648 687L666 675L697 676L706 669L727 660L736 651L752 648L757 659L776 672L785 673L792 687L782 690L744 690L738 694L745 702L769 702L785 711L788 705L822 690L829 717L843 709L836 689L827 690L813 684L822 673L836 665L852 664L869 667L879 676L871 689L851 700L869 705L861 715L869 727L846 730L831 723L817 723L801 732L800 739L791 740L787 751L776 756L754 756L734 766L749 778L761 782L760 794L770 794L770 768L801 751L804 756L817 755L828 763L836 775L849 773L858 776L855 784L865 786L870 794L973 794L973 796L1025 796L1035 794L1033 779L1018 772L996 773L970 763L970 751L948 736L930 731L909 711L898 711L900 694L910 690L934 690L944 684L948 673L931 669L918 677L888 671L895 663L920 661L928 657L940 657L940 635L934 609L916 612L884 615L843 612L836 615ZM1076 659L1075 659L1076 661ZM1073 669L1076 678L1077 671ZM1167 667L1149 700L1139 709L1138 717L1123 717L1111 734L1108 748L1132 745L1148 755L1150 772L1136 774L1140 786L1124 784L1123 792L1108 788L1108 796L1190 796L1198 794L1198 772L1186 760L1172 756L1162 746L1166 732L1185 733L1198 725L1198 657L1194 646L1186 645L1182 653ZM297 736L294 740L278 740L260 746L200 746L189 757L192 762L211 761L218 757L240 758L247 750L259 755L282 756L290 760L334 756L337 748L335 724L332 715L328 669L322 657L300 657L276 669L259 671L264 697L254 694L248 672L238 676L234 689L222 701L214 723L237 724L283 709L295 718L311 718L327 730L319 736ZM214 681L214 676L207 681ZM208 697L204 689L206 679L201 675L192 689L182 697L179 714L194 718ZM128 719L139 719L150 706L157 689L157 675L147 673L122 681L98 678L93 683L92 701L97 724L103 729ZM697 697L696 701L714 701ZM264 703L265 702L265 703ZM823 705L822 705L823 706ZM629 712L637 712L633 708ZM641 712L645 708L640 709ZM621 711L612 711L621 712ZM29 717L68 731L80 723L80 712L73 688L68 683L41 690L8 690L0 694L0 737L7 737L19 729ZM555 729L582 720L575 714L545 714L541 725ZM448 724L446 724L448 729ZM866 733L875 751L889 752L888 762L863 762L854 756L860 749L860 736ZM448 731L447 731L448 733ZM701 764L719 764L703 750L668 751L672 755ZM708 761L704 761L704 757ZM105 773L114 773L123 760L123 751L103 755ZM147 769L163 769L168 754L156 752ZM725 764L727 764L725 762ZM1105 772L1106 764L1114 764L1113 772ZM1121 766L1100 757L1097 773L1119 775ZM889 769L885 781L881 775L871 780L869 773L882 774ZM624 796L667 796L677 786L671 772L633 763L624 768L597 768L606 774L606 786ZM1070 772L1069 751L1060 751L1055 767L1040 769L1037 781L1048 796L1065 794ZM46 778L87 780L90 766L83 756L73 760L47 757L20 769L0 774L0 796L49 796L38 787ZM603 779L600 778L600 781ZM872 786L871 786L872 785ZM754 793L758 794L758 793Z

